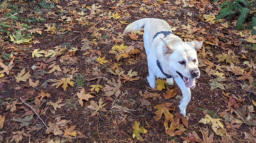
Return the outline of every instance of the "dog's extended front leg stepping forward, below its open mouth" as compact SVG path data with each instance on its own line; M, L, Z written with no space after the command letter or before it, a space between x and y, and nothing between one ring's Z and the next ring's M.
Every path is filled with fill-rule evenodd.
M180 112L183 116L186 116L186 108L187 108L188 102L191 99L191 92L190 92L190 89L185 86L185 83L181 78L176 77L174 78L174 80L177 83L177 85L180 87L182 92L182 100L180 101L180 105L179 105L179 108L181 110Z

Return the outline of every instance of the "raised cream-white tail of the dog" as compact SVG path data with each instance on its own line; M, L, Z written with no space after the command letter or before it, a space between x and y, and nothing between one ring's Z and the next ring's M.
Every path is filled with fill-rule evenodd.
M128 25L125 28L125 31L123 34L141 30L145 26L145 24L148 22L148 19L150 18L143 18L143 19L132 22L130 25Z

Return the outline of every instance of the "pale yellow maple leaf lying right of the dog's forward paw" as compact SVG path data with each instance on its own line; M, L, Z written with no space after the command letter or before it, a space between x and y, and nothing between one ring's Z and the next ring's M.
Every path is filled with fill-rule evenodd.
M212 118L210 115L206 114L205 118L201 118L199 123L207 124L212 122L212 129L217 134L217 129L224 129L224 126L220 121L222 121L220 118Z

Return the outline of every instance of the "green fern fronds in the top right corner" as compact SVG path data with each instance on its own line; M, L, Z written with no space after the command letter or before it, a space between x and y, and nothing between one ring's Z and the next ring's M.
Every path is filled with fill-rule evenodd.
M217 2L219 0L214 0L213 2ZM227 19L231 19L236 14L239 14L237 23L236 23L236 29L240 30L242 29L242 23L246 20L246 18L251 17L251 25L248 26L248 28L253 30L253 34L256 35L256 15L252 16L250 15L253 13L255 6L253 5L255 3L250 3L248 0L233 0L233 1L224 1L219 7L222 9L219 11L219 15L216 17L215 20L227 17ZM251 10L250 10L251 9Z

